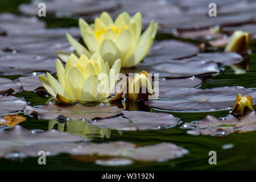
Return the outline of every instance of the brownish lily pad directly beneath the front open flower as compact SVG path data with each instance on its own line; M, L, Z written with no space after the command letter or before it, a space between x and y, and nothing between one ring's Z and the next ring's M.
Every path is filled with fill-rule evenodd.
M102 103L97 106L84 106L80 103L72 106L63 106L49 102L41 107L26 106L24 109L25 114L36 112L38 117L42 119L56 119L59 116L64 116L72 120L108 118L121 114L121 111L122 109L118 107L110 107Z

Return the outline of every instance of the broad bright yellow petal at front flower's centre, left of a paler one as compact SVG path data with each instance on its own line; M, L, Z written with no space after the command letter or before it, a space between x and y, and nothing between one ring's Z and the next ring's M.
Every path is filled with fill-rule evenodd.
M85 79L78 68L73 67L68 73L68 88L74 100L80 100L80 94Z

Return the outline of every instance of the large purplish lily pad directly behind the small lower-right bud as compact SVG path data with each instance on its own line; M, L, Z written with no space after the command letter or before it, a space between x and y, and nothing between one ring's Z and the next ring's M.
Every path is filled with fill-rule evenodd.
M256 90L242 86L220 87L214 89L179 89L161 93L161 97L172 100L150 100L145 104L166 110L228 110L233 106L238 94L251 95L253 104L256 104Z

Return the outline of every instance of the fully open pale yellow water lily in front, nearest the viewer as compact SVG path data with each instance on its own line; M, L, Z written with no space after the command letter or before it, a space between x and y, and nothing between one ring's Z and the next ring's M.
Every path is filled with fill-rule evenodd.
M77 59L71 54L65 69L59 59L56 61L59 82L49 73L47 78L39 78L44 88L59 103L93 102L110 96L120 69L121 60L116 60L110 69L109 63L104 63L99 52L94 53L90 59L85 55Z

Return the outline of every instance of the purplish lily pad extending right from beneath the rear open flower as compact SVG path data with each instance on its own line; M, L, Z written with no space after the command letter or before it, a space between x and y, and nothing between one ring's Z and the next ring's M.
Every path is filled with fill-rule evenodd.
M218 73L218 64L214 61L198 60L193 59L181 59L181 60L168 60L166 56L158 57L147 57L151 59L151 65L144 65L144 63L138 64L134 68L122 68L122 73L140 73L146 70L148 73L158 73L159 77L168 78L180 78L180 77L191 77L196 75ZM158 63L157 60L160 60ZM166 60L165 62L163 60ZM153 64L153 62L155 63ZM154 76L154 75L152 75Z

